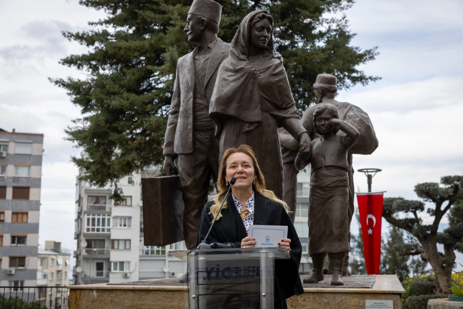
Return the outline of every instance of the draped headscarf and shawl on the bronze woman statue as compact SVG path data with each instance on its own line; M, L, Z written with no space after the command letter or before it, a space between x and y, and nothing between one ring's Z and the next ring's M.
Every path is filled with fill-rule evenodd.
M258 10L241 21L232 40L230 55L217 73L209 105L209 116L216 125L217 137L222 131L221 120L226 117L248 122L245 131L261 124L261 112L267 112L277 120L300 117L283 67L283 58L273 49L273 33L261 66L256 69L249 62L250 31L259 14L270 15L265 10ZM269 17L269 20L273 31L273 19Z

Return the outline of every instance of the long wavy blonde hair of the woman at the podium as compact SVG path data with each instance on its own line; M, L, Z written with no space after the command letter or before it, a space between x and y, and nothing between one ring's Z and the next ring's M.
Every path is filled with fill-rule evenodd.
M257 164L257 159L256 155L254 154L254 151L252 151L252 148L248 145L238 145L235 147L230 147L228 148L224 156L222 157L222 161L220 162L220 171L219 171L219 178L217 180L217 194L214 196L214 205L211 206L209 214L212 214L213 217L219 212L220 205L222 204L225 194L227 193L228 186L230 186L230 183L226 185L225 183L225 175L226 175L226 169L227 169L227 159L230 157L233 153L241 152L246 155L248 155L251 160L252 160L252 165L254 166L254 174L256 176L256 181L252 185L252 189L254 191L257 191L261 195L268 197L272 201L275 201L277 203L282 204L283 208L285 209L286 213L289 213L289 207L286 202L280 200L278 197L276 197L275 193L271 190L265 189L265 179L263 177L262 170L259 168L259 164ZM222 209L227 208L227 201L225 201L224 206ZM217 216L217 220L222 217L222 214L220 213Z

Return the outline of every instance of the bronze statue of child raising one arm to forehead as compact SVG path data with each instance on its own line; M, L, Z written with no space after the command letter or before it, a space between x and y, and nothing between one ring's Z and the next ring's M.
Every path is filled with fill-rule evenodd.
M304 283L323 280L325 254L331 260L332 285L344 285L344 255L350 252L348 233L349 164L347 152L359 137L358 130L339 120L338 108L320 104L313 113L313 128L321 137L313 139L308 156L299 153L294 165L301 170L311 164L309 195L309 254L313 270ZM337 135L338 130L345 133Z

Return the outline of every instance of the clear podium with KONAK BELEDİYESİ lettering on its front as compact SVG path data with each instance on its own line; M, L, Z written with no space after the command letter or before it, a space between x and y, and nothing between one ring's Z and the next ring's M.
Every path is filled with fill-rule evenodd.
M188 261L189 309L273 309L274 260L285 248L170 251Z

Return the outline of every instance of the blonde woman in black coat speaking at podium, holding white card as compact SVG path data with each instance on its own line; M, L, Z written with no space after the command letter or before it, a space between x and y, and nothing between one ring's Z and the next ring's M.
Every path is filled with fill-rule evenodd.
M265 179L256 156L248 145L228 148L221 160L217 181L218 194L203 209L197 244L204 240L219 211L229 181L236 178L232 194L228 195L207 242L232 243L236 248L254 247L256 241L248 236L249 226L288 226L288 238L278 246L288 250L290 259L275 260L275 309L285 309L286 298L304 293L299 277L302 246L288 215L288 205L265 189Z

